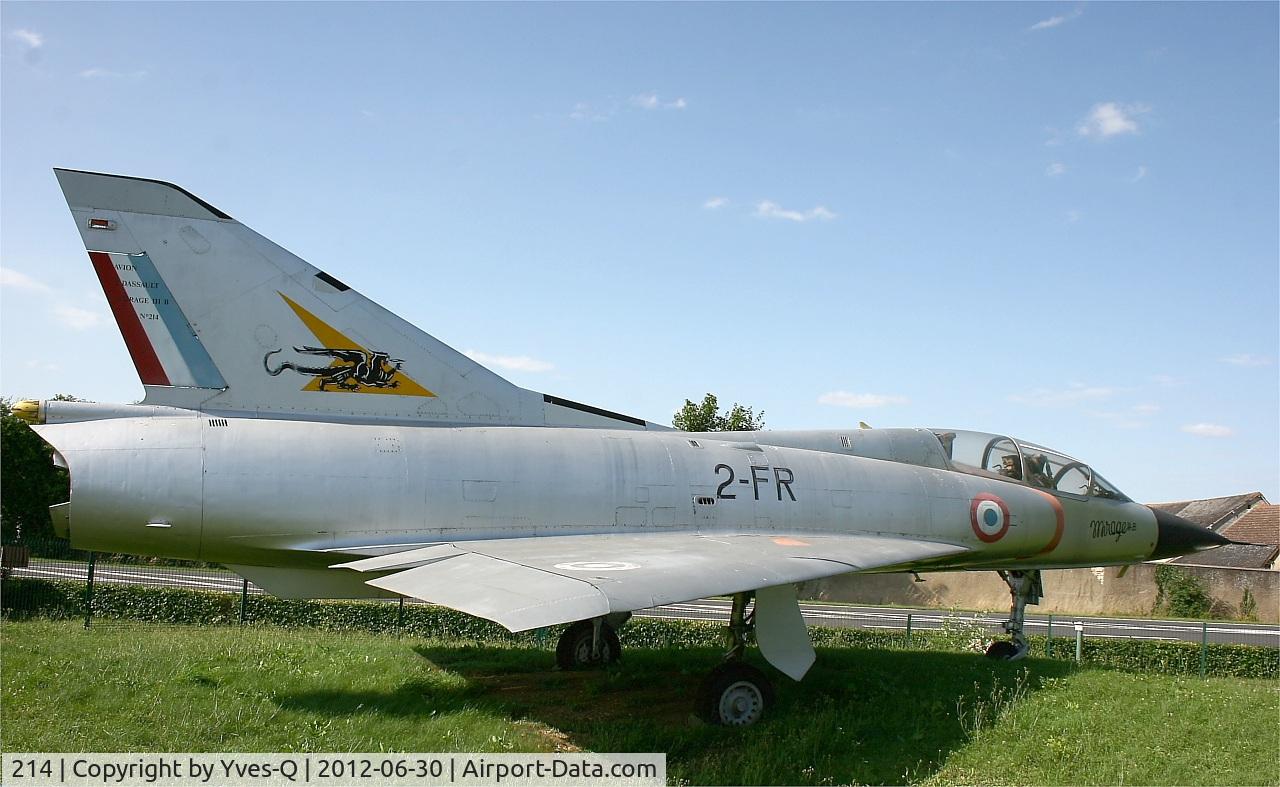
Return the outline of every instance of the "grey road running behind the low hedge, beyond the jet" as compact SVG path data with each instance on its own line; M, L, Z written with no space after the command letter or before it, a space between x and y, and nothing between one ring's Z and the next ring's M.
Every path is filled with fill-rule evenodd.
M32 558L27 568L13 569L13 576L40 577L51 580L84 581L88 564L70 560L47 560ZM216 568L177 568L168 566L131 566L120 563L100 563L93 567L95 582L152 585L161 587L188 587L193 590L215 590L241 592L243 580L229 571ZM262 592L250 585L250 592ZM701 599L684 604L668 604L637 612L637 617L676 618L684 621L728 621L730 603L726 599ZM818 626L847 628L879 628L887 631L906 631L908 619L913 631L936 631L955 624L980 624L992 631L1000 631L1005 622L1004 613L946 612L937 609L905 609L900 607L855 607L851 604L800 605L805 621ZM1172 621L1146 618L1096 618L1079 616L1028 616L1027 633L1046 635L1052 626L1053 636L1074 637L1074 623L1084 627L1084 636L1165 640L1199 642L1207 636L1210 642L1270 645L1280 648L1280 626L1266 623L1228 623L1222 621Z

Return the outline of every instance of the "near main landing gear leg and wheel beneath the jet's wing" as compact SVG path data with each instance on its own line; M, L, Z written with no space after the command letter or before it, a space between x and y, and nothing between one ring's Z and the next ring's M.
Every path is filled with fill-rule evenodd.
M698 690L698 715L713 724L746 727L760 720L773 704L773 685L764 673L745 664L742 653L755 630L755 610L746 610L751 592L733 595L728 618L730 649Z

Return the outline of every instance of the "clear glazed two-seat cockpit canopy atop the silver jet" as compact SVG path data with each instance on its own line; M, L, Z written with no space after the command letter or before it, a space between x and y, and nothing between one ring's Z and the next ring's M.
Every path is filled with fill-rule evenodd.
M980 431L934 429L952 470L1018 481L1075 497L1128 500L1084 462L1028 443Z

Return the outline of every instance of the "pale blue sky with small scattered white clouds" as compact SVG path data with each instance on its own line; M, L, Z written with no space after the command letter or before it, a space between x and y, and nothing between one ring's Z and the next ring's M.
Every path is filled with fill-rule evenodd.
M538 390L1277 502L1277 9L5 3L0 393L142 395L69 166Z

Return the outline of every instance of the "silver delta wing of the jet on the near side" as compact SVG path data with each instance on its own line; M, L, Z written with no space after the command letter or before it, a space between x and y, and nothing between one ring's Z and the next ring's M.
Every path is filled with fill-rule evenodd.
M458 541L339 563L511 631L908 566L965 546L873 535L580 535Z

